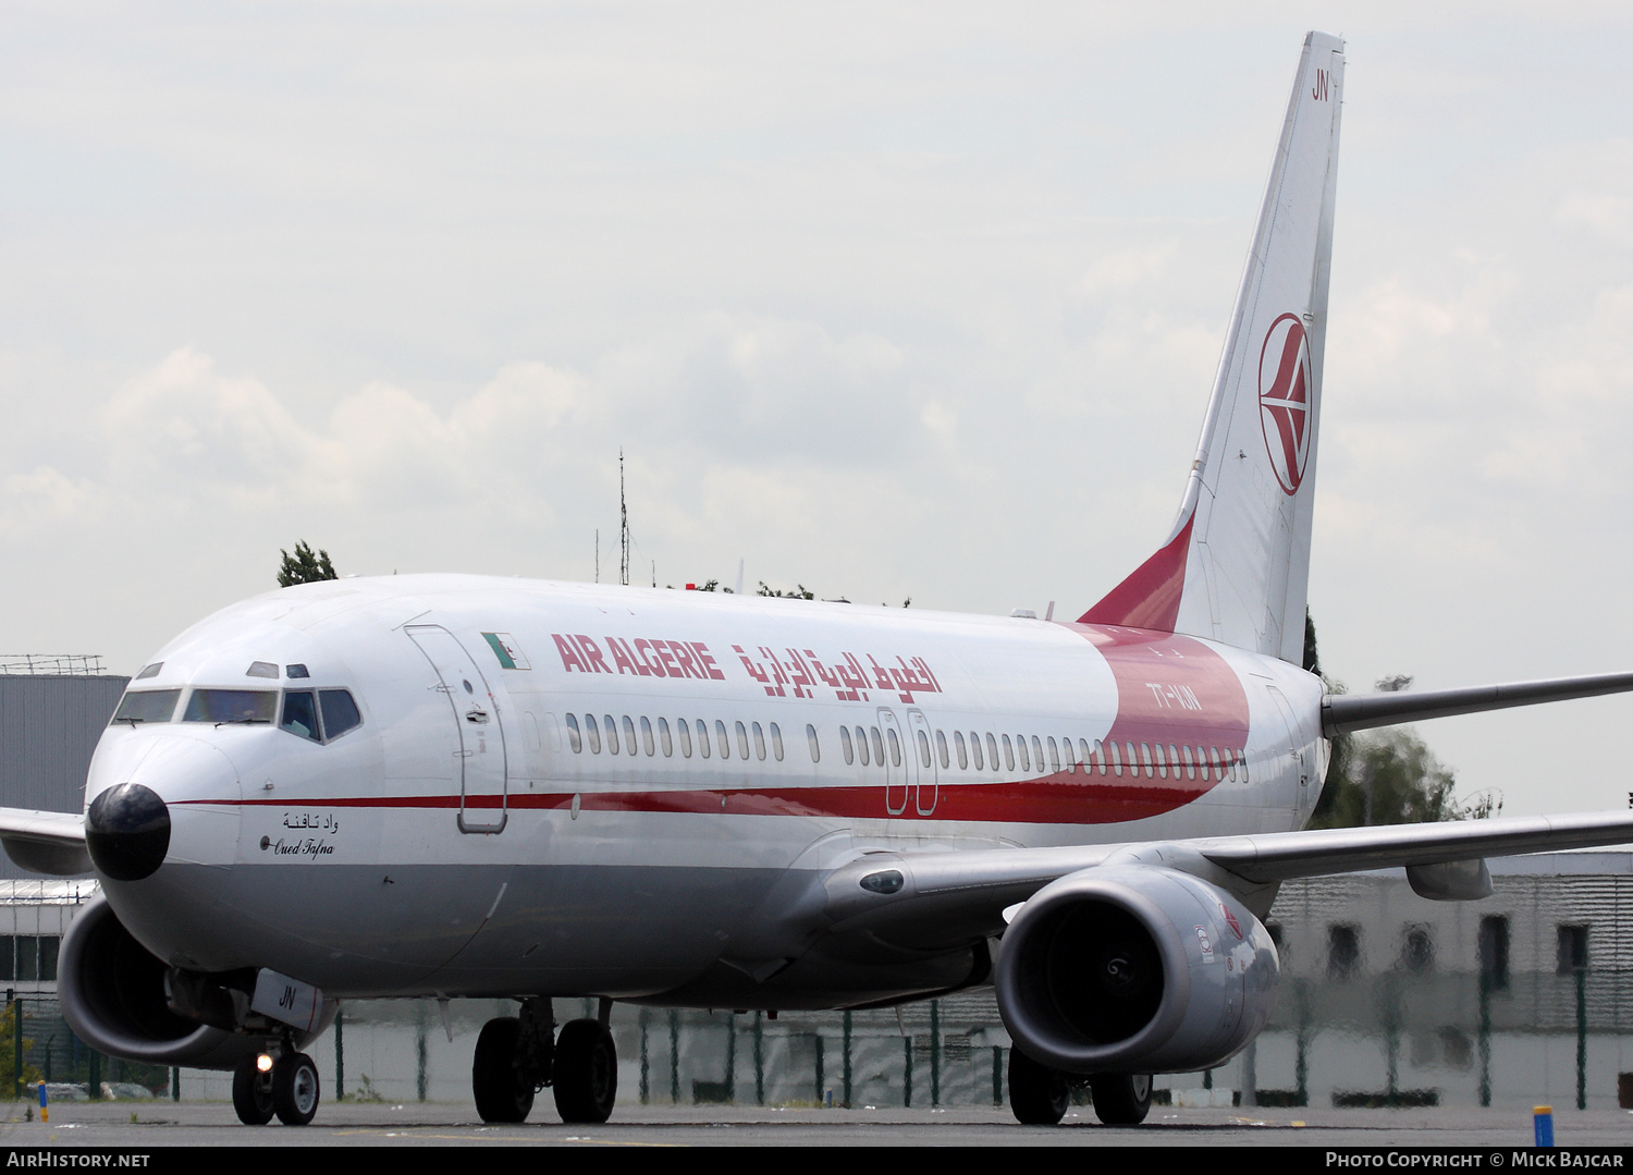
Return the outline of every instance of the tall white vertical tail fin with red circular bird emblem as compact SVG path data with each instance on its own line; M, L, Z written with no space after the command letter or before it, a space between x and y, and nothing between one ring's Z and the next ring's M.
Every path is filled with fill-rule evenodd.
M1174 529L1084 623L1303 655L1342 95L1310 33Z

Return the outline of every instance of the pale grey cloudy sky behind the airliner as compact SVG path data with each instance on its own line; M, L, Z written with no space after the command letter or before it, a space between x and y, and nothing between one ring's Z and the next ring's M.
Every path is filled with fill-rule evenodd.
M1305 29L1349 41L1333 675L1633 668L1625 5L8 3L0 650L273 585L1081 611L1164 536ZM1633 701L1426 724L1620 807Z

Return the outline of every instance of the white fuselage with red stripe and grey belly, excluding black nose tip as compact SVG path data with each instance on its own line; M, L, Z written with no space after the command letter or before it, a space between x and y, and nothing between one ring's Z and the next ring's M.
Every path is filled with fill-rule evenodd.
M175 717L111 726L87 804L152 788L170 850L109 902L173 966L331 995L885 999L923 961L802 971L830 869L1285 832L1326 757L1319 681L1275 659L799 600L354 579L227 608L155 662L131 691L180 690ZM181 721L193 690L276 691L278 717ZM317 742L286 695L325 690L361 722Z

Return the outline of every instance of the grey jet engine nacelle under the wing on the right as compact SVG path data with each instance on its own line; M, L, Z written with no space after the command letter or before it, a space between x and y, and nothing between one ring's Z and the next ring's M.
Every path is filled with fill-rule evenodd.
M1073 1074L1212 1069L1259 1034L1280 961L1223 889L1102 864L1040 889L1004 932L998 1010L1034 1061Z

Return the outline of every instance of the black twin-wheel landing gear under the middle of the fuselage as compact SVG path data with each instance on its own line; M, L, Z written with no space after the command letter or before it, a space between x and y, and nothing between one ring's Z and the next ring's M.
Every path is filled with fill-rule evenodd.
M477 1113L485 1123L526 1121L534 1093L555 1092L563 1123L604 1123L617 1100L617 1049L607 1018L612 1000L601 1000L596 1020L572 1020L555 1033L550 1000L523 1000L519 1016L498 1016L482 1026L470 1064Z

